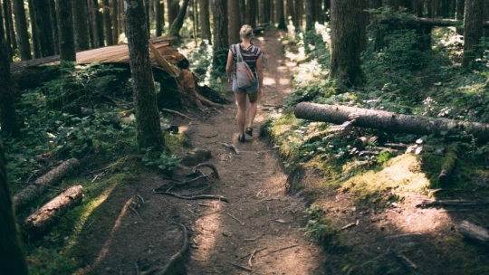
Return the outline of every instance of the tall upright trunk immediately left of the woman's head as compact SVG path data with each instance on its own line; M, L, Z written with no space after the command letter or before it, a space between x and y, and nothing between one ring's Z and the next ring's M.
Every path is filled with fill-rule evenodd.
M213 60L212 64L216 70L222 69L227 61L229 41L227 39L227 0L212 0L213 25Z

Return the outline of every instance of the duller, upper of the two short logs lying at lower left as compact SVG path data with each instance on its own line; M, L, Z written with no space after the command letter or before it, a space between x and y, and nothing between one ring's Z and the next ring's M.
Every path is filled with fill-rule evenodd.
M57 166L45 175L39 177L37 180L35 180L34 184L28 185L19 193L14 195L13 202L15 207L20 208L24 206L24 204L31 202L36 196L42 194L47 186L58 183L66 174L71 172L73 168L79 165L80 162L78 159L70 158L63 162L60 166Z

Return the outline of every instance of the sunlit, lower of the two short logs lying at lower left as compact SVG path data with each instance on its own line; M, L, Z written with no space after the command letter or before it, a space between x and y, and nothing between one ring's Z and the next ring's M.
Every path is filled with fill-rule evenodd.
M82 185L70 187L25 219L22 226L24 236L27 239L34 239L41 236L64 213L67 213L74 206L82 204L82 199Z

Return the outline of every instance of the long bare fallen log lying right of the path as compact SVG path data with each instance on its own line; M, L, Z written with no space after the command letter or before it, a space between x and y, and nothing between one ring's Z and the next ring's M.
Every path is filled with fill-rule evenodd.
M489 140L489 124L455 119L435 119L402 115L376 109L360 109L340 105L302 102L295 107L297 119L342 124L355 117L352 126L437 137L472 135L478 141Z

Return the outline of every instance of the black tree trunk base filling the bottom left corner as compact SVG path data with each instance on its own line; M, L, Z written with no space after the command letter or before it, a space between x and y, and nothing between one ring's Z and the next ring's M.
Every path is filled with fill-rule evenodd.
M3 26L1 27L3 28ZM3 40L0 38L0 40ZM3 49L3 48L2 48ZM1 52L1 51L0 51ZM27 275L22 243L7 182L4 147L0 141L0 267L4 274Z

